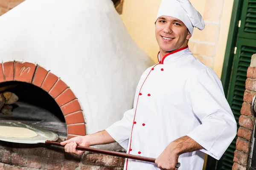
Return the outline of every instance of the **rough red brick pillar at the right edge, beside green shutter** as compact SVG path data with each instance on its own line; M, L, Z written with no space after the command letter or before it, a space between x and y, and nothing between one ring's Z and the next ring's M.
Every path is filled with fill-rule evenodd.
M251 161L253 150L253 129L255 117L251 112L253 96L256 95L256 54L252 56L250 67L247 70L247 80L245 84L244 103L239 117L239 129L237 132L236 151L232 170L247 170ZM254 132L255 133L255 132Z

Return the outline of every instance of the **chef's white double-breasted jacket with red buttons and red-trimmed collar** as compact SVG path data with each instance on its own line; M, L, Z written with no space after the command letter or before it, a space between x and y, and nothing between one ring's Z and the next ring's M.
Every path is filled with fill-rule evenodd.
M237 127L220 79L185 47L143 73L133 109L106 130L127 153L151 158L175 139L189 136L204 149L180 155L179 170L202 170L205 153L220 159ZM159 168L126 159L124 170Z

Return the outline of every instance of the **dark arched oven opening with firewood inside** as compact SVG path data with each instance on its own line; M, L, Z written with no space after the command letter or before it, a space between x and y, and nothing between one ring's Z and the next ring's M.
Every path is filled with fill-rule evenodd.
M18 97L17 102L9 104L15 100L15 95ZM12 96L12 99L5 96ZM38 86L17 81L0 83L1 106L0 123L22 122L51 130L60 138L67 137L67 125L61 108L52 96Z

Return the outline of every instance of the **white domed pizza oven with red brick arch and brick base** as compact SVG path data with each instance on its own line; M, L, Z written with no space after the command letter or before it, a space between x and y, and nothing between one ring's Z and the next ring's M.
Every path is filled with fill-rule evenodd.
M121 119L132 107L140 75L154 64L132 40L111 0L69 2L26 0L0 17L0 96L7 91L18 98L3 102L11 109L0 111L0 123L37 125L57 133L58 141ZM123 151L116 143L96 147ZM121 170L123 162L0 141L0 170Z

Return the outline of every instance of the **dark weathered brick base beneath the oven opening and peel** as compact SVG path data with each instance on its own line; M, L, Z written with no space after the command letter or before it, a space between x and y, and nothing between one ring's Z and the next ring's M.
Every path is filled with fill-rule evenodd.
M124 159L85 152L65 153L63 147L0 142L0 170L122 170Z

